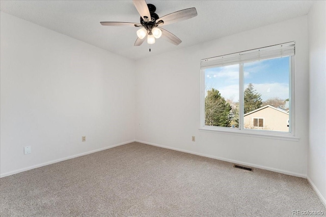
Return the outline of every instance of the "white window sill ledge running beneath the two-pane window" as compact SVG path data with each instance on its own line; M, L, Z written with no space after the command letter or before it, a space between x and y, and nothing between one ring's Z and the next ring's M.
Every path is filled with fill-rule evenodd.
M276 135L276 134L262 134L262 133L254 133L248 131L240 131L240 130L220 130L220 129L208 129L201 128L199 129L201 132L210 132L210 133L222 133L222 134L231 134L231 135L239 135L239 136L249 136L249 137L259 137L266 139L278 139L278 140L287 140L287 141L295 141L298 142L300 138L295 136L287 136L287 135Z

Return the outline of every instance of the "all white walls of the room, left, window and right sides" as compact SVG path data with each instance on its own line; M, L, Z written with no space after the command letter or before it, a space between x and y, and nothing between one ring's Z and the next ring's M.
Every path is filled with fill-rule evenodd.
M0 175L136 138L298 176L307 174L308 164L308 178L325 198L325 2L311 8L308 24L307 16L298 17L135 65L1 12ZM200 59L289 41L296 42L296 136L300 141L199 131ZM84 135L87 142L81 142ZM191 136L196 136L196 142ZM32 154L24 155L27 145L32 146Z

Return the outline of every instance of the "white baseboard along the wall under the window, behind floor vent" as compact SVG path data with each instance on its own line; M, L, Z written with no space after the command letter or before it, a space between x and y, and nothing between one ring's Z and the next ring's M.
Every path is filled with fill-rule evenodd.
M150 143L150 142L144 142L144 141L140 141L140 140L135 140L135 142L140 142L140 143L153 145L153 146L157 146L157 147L168 148L168 149L171 149L171 150L196 154L198 156L203 156L203 157L212 158L212 159L216 159L216 160L226 161L226 162L230 162L230 163L234 163L234 164L241 164L241 165L244 165L244 166L250 166L250 167L255 167L255 168L259 168L259 169L263 169L263 170L269 170L269 171L283 173L283 174L287 174L287 175L307 178L307 174L295 173L295 172L291 172L291 171L286 171L286 170L280 170L280 169L271 168L271 167L260 166L260 165L257 165L257 164L251 164L251 163L235 161L235 160L227 159L227 158L215 157L215 156L211 156L211 155L208 155L208 154L198 153L198 152L194 152L194 151L187 151L187 150L183 150L183 149L179 149L179 148L173 148L173 147L169 147L169 146L158 145L158 144L154 144L154 143Z

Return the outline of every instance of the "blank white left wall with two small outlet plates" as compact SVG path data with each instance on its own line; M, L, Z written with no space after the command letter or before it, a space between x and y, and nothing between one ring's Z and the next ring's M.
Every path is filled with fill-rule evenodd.
M1 12L0 65L1 176L134 140L134 61Z

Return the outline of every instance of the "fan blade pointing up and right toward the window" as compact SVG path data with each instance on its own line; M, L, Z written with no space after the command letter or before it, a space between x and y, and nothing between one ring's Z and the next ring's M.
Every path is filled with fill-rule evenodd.
M161 25L168 25L174 22L179 22L182 20L190 19L197 16L196 8L187 8L181 11L176 11L174 13L162 16L161 18L158 18L156 20L156 23ZM159 23L159 21L162 20L164 23Z

